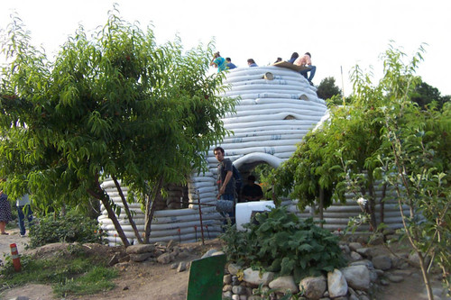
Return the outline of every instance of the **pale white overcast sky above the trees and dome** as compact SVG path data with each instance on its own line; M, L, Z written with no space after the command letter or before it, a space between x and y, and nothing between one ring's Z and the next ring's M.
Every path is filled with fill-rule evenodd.
M247 68L251 58L265 66L308 51L317 66L313 83L335 77L345 95L352 92L355 65L372 70L377 83L380 56L390 43L409 58L426 43L417 74L451 95L449 0L0 0L0 29L15 12L33 45L51 57L78 24L86 30L105 25L114 3L125 21L143 29L152 24L157 43L178 35L189 50L214 40L216 50L238 67Z

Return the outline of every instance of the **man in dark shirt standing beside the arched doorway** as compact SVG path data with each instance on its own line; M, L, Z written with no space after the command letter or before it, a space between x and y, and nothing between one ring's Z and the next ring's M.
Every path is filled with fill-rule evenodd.
M217 188L218 194L216 199L232 201L234 208L232 212L226 213L226 217L231 219L232 224L235 223L235 182L232 161L224 157L225 151L222 147L216 147L213 150L217 161Z

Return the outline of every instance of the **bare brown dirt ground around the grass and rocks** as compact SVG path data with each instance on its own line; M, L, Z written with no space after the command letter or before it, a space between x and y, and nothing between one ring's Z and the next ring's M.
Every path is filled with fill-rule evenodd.
M9 236L0 237L0 259L4 254L9 254L9 244L16 243L19 253L29 253L30 250L24 250L24 244L27 238L20 238L18 232L10 231ZM189 249L190 256L184 259L188 261L198 259L207 250L221 247L218 240L206 241L205 246L201 242L182 244L183 248ZM46 246L44 246L46 247ZM65 245L53 244L51 247L42 249L41 253L51 253ZM104 251L104 255L112 255L113 251L108 247L96 247L96 251ZM41 254L45 255L45 254ZM110 291L102 292L97 295L69 296L65 299L152 299L152 300L184 300L186 299L188 289L189 270L178 272L177 269L170 268L170 265L161 265L154 262L144 262L141 264L128 264L119 269L119 277L115 279L115 288ZM439 287L438 276L433 275L434 286ZM5 290L0 294L0 299L11 299L16 296L28 296L32 300L51 300L60 299L53 295L51 286L45 285L27 285ZM406 271L404 280L400 283L391 283L389 286L380 286L374 299L383 300L403 300L403 299L427 299L425 287L419 269L410 268ZM442 298L444 299L444 298Z

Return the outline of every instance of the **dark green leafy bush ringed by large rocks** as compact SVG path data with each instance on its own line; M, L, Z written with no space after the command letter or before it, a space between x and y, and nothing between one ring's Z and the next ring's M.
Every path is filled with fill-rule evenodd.
M297 282L345 265L336 236L285 207L256 214L255 221L244 227L247 232L231 226L221 235L228 259L238 264L293 275Z

